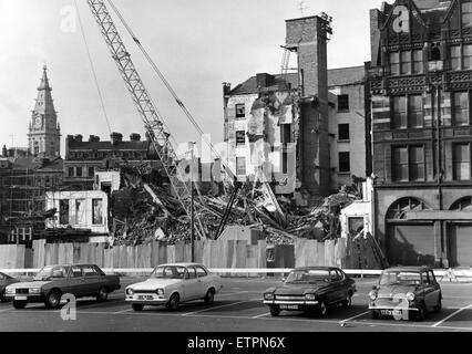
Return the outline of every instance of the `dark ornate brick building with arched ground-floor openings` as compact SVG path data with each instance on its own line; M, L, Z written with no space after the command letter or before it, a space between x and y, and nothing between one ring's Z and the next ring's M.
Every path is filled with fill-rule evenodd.
M370 12L374 232L391 264L472 266L472 2Z

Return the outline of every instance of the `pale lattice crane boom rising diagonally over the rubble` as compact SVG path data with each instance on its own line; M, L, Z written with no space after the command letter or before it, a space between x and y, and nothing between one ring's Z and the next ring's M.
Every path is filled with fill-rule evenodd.
M151 143L158 155L158 158L168 176L172 187L188 217L192 217L192 187L188 177L185 176L182 167L177 164L177 154L171 143L171 134L165 129L151 96L137 73L130 53L126 51L123 40L117 32L113 19L105 6L104 0L88 0L92 14L102 32L102 35L109 46L112 58L115 61L123 81L134 101L134 104L144 123ZM133 38L135 42L137 39ZM199 206L195 205L196 209ZM195 212L196 230L201 237L206 237L206 229L203 227L198 217L198 210Z

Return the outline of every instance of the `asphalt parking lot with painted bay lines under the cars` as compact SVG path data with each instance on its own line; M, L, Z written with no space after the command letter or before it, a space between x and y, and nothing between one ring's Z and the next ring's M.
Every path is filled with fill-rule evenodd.
M203 301L182 304L177 312L164 308L146 308L136 313L124 302L124 288L140 279L123 279L122 289L106 303L79 300L76 320L63 321L61 311L45 310L41 304L30 304L24 310L13 310L9 303L0 304L2 332L410 332L410 331L472 331L472 284L442 283L443 310L428 314L424 322L371 320L367 311L368 293L374 280L358 280L358 293L352 308L330 309L326 319L299 312L283 312L271 317L261 303L265 289L279 284L273 279L225 279L225 288L215 303Z

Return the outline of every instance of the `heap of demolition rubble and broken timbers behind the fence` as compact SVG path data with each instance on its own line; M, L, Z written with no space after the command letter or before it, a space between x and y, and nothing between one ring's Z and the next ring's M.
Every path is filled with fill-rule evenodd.
M179 201L168 192L168 185L132 180L112 196L114 244L134 246L154 240L167 241L170 244L189 241L191 220ZM203 195L197 189L195 204L199 206L198 218L209 237L214 238L233 190L215 196ZM259 229L266 235L269 244L291 244L296 238L320 241L337 238L340 210L359 198L351 192L343 188L337 195L320 199L315 208L297 207L290 199L279 197L280 216L274 205L264 198L259 185L254 187L246 184L238 192L227 226Z

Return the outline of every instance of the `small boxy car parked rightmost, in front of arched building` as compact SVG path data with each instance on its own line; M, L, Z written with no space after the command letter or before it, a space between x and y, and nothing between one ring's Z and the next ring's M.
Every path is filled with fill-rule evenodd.
M369 298L372 319L388 315L422 321L427 312L442 309L441 287L429 267L384 270Z

